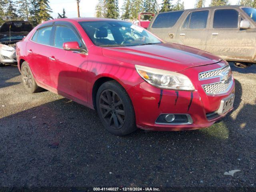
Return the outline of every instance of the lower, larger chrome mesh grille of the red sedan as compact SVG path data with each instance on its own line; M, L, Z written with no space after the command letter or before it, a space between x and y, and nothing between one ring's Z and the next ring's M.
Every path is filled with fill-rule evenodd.
M204 91L208 95L221 94L227 92L232 86L232 76L226 81L203 85Z

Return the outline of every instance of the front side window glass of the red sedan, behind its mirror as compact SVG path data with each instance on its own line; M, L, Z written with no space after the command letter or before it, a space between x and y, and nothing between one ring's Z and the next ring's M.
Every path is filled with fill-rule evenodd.
M65 26L56 26L54 46L62 48L66 42L78 42L79 46L82 46L81 39L70 28Z

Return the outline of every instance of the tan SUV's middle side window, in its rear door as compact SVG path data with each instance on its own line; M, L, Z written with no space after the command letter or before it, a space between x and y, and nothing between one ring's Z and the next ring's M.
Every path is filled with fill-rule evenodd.
M196 11L190 13L184 24L182 25L183 29L204 29L207 25L209 11Z

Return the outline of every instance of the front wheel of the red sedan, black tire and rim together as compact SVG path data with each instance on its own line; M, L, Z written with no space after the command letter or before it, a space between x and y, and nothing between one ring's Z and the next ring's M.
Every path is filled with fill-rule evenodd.
M132 101L114 80L105 82L98 89L96 109L104 127L114 135L125 136L137 129Z

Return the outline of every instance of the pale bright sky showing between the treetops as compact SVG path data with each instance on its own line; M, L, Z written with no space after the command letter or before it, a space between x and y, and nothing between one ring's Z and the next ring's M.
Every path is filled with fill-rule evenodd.
M182 1L182 0L181 0ZM229 0L232 5L236 5L238 0ZM158 0L162 3L162 0ZM174 0L176 2L176 0ZM196 0L184 0L186 9L194 8ZM206 6L210 4L211 0L206 0ZM95 6L98 0L81 0L80 2L80 15L82 17L94 17ZM120 7L123 4L123 0L119 0ZM62 13L62 9L65 8L67 17L77 17L76 0L50 0L50 6L52 8L52 17L56 18L58 12Z

